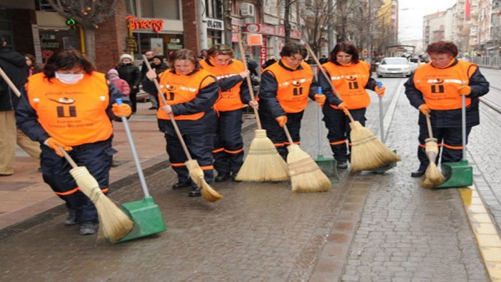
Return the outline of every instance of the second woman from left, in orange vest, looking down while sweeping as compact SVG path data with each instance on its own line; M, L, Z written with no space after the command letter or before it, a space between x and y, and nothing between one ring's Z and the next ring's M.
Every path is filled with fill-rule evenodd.
M172 188L191 186L188 196L201 196L196 183L189 178L185 164L188 158L168 114L173 114L191 156L203 170L206 183L212 183L212 148L217 119L213 105L219 96L218 82L211 73L201 69L195 54L188 49L171 54L169 66L169 71L163 71L158 76L152 69L146 73L146 77L159 79L162 95L167 102L164 105L162 99L159 100L157 118L160 131L165 134L171 166L178 174L178 183Z

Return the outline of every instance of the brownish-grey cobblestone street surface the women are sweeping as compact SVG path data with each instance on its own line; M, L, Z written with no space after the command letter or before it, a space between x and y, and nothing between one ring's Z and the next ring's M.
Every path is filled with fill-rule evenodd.
M79 236L56 216L0 241L1 281L489 281L457 189L423 189L409 176L417 168L417 110L401 81L383 79L385 111L395 109L385 119L387 143L403 158L391 171L340 171L341 183L326 193L292 194L288 181L214 183L225 197L216 203L173 191L171 168L150 171L165 233L113 245ZM316 109L308 107L301 133L313 158ZM375 133L377 109L375 101L367 114ZM252 139L251 129L244 141ZM480 157L473 150L482 147L471 143ZM322 152L330 156L327 142ZM485 173L490 185L495 173ZM142 198L137 181L122 186L113 200Z

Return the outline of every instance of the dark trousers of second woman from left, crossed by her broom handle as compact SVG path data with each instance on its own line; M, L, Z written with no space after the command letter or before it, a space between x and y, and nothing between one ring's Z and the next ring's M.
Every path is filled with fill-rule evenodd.
M178 139L178 136L166 134L167 153L171 161L171 166L178 174L178 181L186 183L190 181L188 168L185 162L188 161L186 153L183 151L183 146ZM203 176L207 183L212 183L214 178L213 173L213 134L183 134L183 139L188 146L188 151L191 158L198 161L198 165L203 170ZM192 183L195 186L195 183Z

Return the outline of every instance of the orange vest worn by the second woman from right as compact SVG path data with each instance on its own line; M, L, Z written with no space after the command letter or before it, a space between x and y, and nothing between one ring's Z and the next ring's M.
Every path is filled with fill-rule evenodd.
M367 108L370 96L365 86L370 79L370 65L365 61L350 66L338 66L332 62L322 65L330 75L330 81L341 96L341 100L348 104L350 110ZM338 106L330 105L334 109Z

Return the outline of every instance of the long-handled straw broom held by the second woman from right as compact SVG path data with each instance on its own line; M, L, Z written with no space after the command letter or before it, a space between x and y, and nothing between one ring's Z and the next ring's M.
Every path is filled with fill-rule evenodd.
M341 99L332 81L330 81L330 77L325 73L317 56L315 56L315 53L313 53L307 42L305 42L305 47L318 65L318 69L320 69L323 76L325 76L325 79L327 79L330 84L333 94ZM378 138L369 129L363 127L359 121L355 121L349 111L346 111L345 114L348 116L348 119L350 119L351 128L351 171L370 171L400 161L400 156L378 140Z

